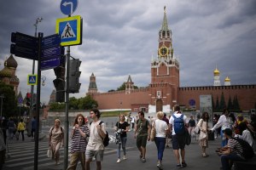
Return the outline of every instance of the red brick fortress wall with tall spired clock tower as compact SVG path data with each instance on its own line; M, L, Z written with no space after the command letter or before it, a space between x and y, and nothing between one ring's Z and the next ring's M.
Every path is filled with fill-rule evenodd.
M166 10L159 31L159 50L157 59L151 61L151 82L147 88L134 89L131 76L128 77L124 91L98 93L96 77L92 73L87 95L96 99L99 109L131 109L131 111L172 111L173 105L189 108L189 100L200 108L200 95L211 94L215 100L224 93L225 103L237 96L241 110L250 110L256 104L256 85L230 85L227 77L225 85L220 86L219 71L213 71L214 85L206 87L180 87L179 63L172 48L172 31L168 28Z

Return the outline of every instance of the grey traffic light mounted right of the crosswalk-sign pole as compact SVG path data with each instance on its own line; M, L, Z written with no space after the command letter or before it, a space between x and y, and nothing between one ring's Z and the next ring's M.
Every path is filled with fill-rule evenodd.
M79 77L81 75L81 71L79 71L79 67L81 65L79 59L71 59L69 64L69 93L79 93L79 89L81 83L79 83Z

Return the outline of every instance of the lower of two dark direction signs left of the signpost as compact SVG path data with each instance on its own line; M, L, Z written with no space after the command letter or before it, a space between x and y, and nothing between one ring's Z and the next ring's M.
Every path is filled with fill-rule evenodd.
M10 53L21 58L38 60L38 50L33 48L26 48L20 45L11 44Z

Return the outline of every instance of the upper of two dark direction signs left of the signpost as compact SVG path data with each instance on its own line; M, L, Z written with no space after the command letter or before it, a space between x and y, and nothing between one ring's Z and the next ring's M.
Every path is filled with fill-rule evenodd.
M25 48L38 48L38 38L32 37L20 32L12 32L11 42L14 42L16 45Z

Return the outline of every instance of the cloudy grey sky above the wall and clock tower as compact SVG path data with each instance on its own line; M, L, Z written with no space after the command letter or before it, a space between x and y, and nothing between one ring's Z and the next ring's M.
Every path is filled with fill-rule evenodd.
M34 36L55 33L61 13L61 0L1 0L0 70L10 55L11 32ZM79 94L88 91L90 75L96 76L100 92L118 88L131 75L138 87L150 83L150 62L156 58L158 31L164 16L172 30L174 54L180 63L180 86L212 86L217 65L221 83L256 84L256 0L79 0L72 15L83 18L83 44L71 47L71 55L82 60ZM16 57L20 91L30 92L27 74L32 60ZM47 77L41 101L48 103L54 89L53 70L42 71ZM36 91L35 91L36 92Z

